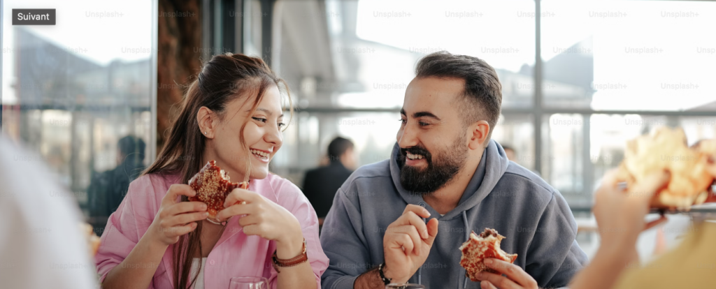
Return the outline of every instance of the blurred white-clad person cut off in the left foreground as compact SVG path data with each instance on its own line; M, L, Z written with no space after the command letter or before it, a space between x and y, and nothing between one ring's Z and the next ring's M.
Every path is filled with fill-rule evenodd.
M0 287L97 288L74 195L0 135Z

